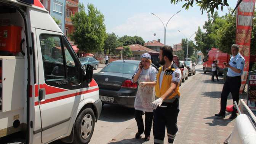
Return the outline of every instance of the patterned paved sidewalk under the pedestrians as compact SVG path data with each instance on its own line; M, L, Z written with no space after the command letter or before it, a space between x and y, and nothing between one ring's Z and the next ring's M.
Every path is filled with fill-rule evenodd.
M234 127L235 120L230 120L230 113L225 118L216 118L214 114L220 109L220 96L222 91L222 78L220 82L211 82L211 74L197 74L189 77L189 81L182 84L179 102L178 128L174 143L176 144L223 144ZM244 97L243 97L244 98ZM231 95L228 105L232 104ZM136 122L127 126L122 133L115 136L110 144L141 144L154 143L151 133L150 141L135 139L137 132ZM167 143L167 134L165 144Z

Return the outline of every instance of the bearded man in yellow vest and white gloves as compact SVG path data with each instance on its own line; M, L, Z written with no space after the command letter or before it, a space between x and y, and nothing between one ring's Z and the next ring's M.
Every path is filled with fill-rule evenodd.
M158 69L157 85L155 85L156 97L152 102L154 143L163 144L166 128L168 144L172 144L178 131L181 70L173 62L171 46L160 48L159 59L159 64L162 66Z

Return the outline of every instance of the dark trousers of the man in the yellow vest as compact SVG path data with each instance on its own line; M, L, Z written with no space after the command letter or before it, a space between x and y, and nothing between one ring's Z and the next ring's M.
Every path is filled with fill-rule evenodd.
M178 131L178 114L179 101L175 101L173 103L163 102L162 107L157 107L157 109L154 110L154 144L163 144L163 140L165 138L165 127L167 129L168 142L173 143L176 133Z

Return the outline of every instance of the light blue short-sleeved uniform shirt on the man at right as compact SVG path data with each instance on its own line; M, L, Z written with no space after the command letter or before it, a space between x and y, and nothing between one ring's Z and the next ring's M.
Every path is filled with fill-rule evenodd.
M231 56L229 65L237 69L240 69L241 72L237 73L237 72L234 72L232 69L228 68L227 70L228 77L241 76L243 74L243 67L245 66L245 58L243 58L243 56L240 53L238 53L236 56Z

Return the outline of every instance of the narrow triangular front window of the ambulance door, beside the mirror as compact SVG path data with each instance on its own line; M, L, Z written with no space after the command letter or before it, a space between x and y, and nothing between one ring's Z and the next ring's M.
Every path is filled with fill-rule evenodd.
M81 82L79 78L79 66L72 57L72 47L68 44L67 40L64 39L64 51L67 66L67 78L69 79L70 85L78 85ZM75 56L75 54L73 54Z

